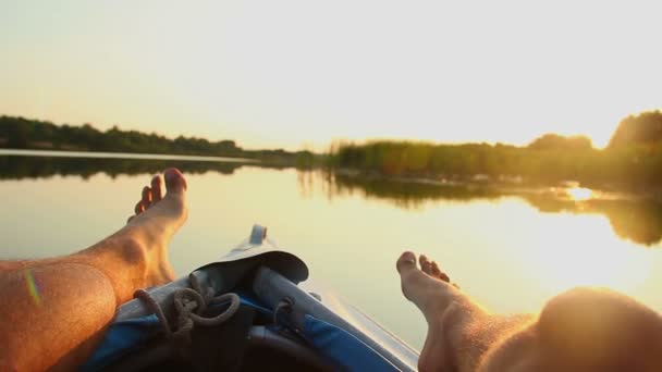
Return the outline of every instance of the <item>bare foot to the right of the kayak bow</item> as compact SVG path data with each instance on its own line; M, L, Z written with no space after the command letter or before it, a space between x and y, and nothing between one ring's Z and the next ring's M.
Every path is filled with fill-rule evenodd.
M404 252L397 260L402 292L422 312L428 335L418 360L420 371L474 370L486 350L481 337L473 336L474 324L488 317L434 261Z

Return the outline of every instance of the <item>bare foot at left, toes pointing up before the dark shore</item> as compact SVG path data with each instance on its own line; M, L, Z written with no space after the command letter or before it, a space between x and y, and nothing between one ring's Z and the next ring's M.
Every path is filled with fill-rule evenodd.
M163 179L166 193L163 193ZM142 245L148 259L147 285L162 284L174 278L168 260L168 244L187 218L186 179L176 169L169 169L145 186L135 215L118 234L127 234Z

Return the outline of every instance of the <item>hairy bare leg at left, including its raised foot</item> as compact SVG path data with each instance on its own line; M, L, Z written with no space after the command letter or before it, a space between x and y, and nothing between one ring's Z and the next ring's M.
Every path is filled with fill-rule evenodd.
M81 252L0 264L0 370L79 365L137 288L172 280L167 245L186 220L186 181L155 177L136 215Z

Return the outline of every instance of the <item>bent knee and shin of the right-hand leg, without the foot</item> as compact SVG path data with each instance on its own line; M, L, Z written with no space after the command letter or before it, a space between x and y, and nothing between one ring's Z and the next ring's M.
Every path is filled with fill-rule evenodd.
M536 323L495 344L485 371L662 371L662 318L605 288L552 298ZM524 369L524 367L530 367Z

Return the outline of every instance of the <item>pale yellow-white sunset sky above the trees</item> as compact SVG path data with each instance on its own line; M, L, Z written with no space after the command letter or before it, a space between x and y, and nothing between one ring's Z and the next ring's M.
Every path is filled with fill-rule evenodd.
M654 1L0 0L0 114L234 139L603 146L662 108Z

